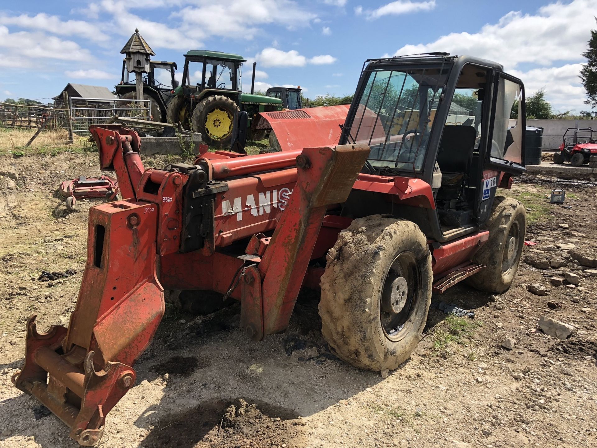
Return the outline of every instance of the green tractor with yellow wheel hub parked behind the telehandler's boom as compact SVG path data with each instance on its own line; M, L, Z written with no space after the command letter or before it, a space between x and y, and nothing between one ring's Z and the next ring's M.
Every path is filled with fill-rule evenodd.
M236 111L247 112L248 129L257 113L281 111L278 98L242 93L243 62L247 60L238 54L190 50L184 55L181 85L168 104L168 122L199 132L204 143L223 148L230 145ZM262 140L265 134L266 130L249 131L247 138Z

